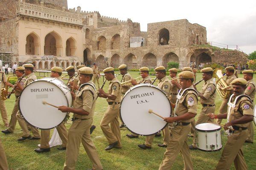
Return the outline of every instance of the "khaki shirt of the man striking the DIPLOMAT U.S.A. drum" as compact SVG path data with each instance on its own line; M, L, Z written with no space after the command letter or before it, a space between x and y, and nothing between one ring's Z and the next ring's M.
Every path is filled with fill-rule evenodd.
M193 88L190 86L189 88ZM198 104L198 95L195 91L188 90L183 96L181 96L180 100L176 105L176 114L177 116L181 116L187 112L197 114L197 104ZM194 118L189 120L183 120L182 122L192 122Z

